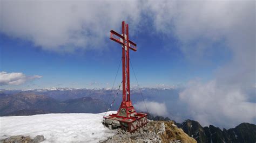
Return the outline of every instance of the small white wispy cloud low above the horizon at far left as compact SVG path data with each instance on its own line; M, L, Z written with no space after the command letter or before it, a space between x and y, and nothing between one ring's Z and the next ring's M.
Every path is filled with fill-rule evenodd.
M41 78L42 76L26 76L23 73L6 73L5 71L0 72L0 85L20 85L27 81Z

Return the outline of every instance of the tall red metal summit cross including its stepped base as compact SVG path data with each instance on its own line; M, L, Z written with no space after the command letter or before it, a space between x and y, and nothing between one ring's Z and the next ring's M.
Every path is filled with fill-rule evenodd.
M122 22L122 34L111 30L110 39L122 45L123 101L116 114L104 118L106 120L118 120L124 130L132 132L147 124L147 114L137 113L130 99L129 49L137 51L137 45L129 40L129 26L125 22Z

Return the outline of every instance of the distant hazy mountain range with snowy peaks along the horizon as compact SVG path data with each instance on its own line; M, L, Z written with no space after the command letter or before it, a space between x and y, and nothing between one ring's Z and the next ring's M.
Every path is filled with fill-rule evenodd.
M70 99L79 99L79 98L84 98L84 97L91 97L93 99L99 99L102 102L105 102L104 106L107 105L107 107L104 108L109 108L109 105L111 104L114 95L119 93L118 96L115 99L115 102L111 108L111 110L118 110L119 108L119 103L122 101L122 90L118 89L113 89L111 90L110 88L93 88L93 89L75 89L75 88L48 88L48 89L30 89L30 90L13 90L13 89L0 89L0 98L2 96L12 96L12 95L43 95L46 96L49 100L52 102L58 102L60 104L60 108L63 108L63 104L66 106L69 106L67 104L71 104L71 102L68 102ZM178 88L133 88L131 90L131 100L134 103L141 102L143 101L142 93L145 96L144 98L147 101L154 101L154 102L163 102L165 101L167 108L169 109L176 109L174 106L177 106L176 104L178 103L177 100L179 98L179 89ZM157 95L157 96L156 96ZM14 96L12 96L14 99L18 99ZM45 98L46 98L45 97ZM22 99L21 99L22 100ZM98 102L100 102L98 101ZM50 102L50 101L49 101ZM78 102L78 101L77 101ZM95 101L96 102L96 101ZM63 103L63 104L61 104ZM102 108L102 106L99 106ZM88 110L82 111L83 109L78 109L77 107L73 107L80 112L87 112ZM98 107L97 107L98 108ZM22 109L29 109L29 110L35 110L34 108L21 108ZM57 108L59 109L59 108ZM42 110L42 109L39 109ZM69 111L75 111L72 109L67 109ZM95 109L93 112L95 112ZM106 110L106 109L104 109ZM102 109L97 109L97 112L104 111ZM12 110L15 111L15 110ZM64 110L61 110L62 112L65 112ZM51 109L50 112L56 112L55 109ZM60 112L58 110L58 112ZM1 114L1 108L0 108L0 115ZM6 112L7 113L7 112ZM9 112L10 113L10 112Z

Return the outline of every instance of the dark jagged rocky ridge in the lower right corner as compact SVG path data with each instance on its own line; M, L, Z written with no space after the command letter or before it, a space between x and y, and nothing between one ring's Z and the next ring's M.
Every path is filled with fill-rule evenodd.
M213 125L202 127L197 121L185 120L178 127L197 142L256 142L256 125L250 123L242 123L228 130L224 128L222 131Z

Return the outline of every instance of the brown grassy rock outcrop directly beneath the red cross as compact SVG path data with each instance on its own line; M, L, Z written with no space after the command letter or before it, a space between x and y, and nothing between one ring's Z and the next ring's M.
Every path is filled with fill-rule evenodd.
M117 134L103 142L197 142L189 137L173 121L149 121L145 126L130 133L120 128Z

